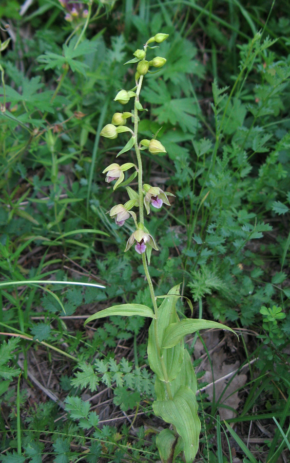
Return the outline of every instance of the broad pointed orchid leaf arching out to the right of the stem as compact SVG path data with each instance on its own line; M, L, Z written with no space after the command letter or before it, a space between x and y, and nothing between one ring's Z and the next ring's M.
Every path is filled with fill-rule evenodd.
M162 347L164 349L168 349L170 347L176 346L184 338L184 336L186 336L186 334L191 334L199 330L210 328L229 330L235 333L235 331L231 328L228 328L227 326L222 325L218 322L210 322L210 320L203 320L198 318L186 318L181 322L172 323L166 328L163 337Z

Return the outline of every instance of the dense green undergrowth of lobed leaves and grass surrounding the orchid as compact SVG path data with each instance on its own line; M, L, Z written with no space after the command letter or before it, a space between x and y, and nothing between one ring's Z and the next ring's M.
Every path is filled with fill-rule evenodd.
M115 203L102 171L123 145L99 134L115 89L134 86L123 62L162 31L167 63L144 88L139 131L150 139L162 126L169 160L147 155L147 180L175 199L151 219L151 276L158 295L181 282L195 318L237 329L239 342L223 341L227 362L238 361L224 395L247 375L235 417L221 421L201 364L197 461L231 462L234 448L246 463L287 461L286 3L94 2L88 24L65 21L57 1L23 15L20 6L0 6L0 459L159 459L148 322L84 320L112 304L151 304L139 256L124 254L132 226L106 215ZM180 300L177 309L189 313Z

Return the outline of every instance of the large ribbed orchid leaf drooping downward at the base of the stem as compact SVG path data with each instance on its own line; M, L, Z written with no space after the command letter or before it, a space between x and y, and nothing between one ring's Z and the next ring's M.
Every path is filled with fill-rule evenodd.
M172 400L153 402L154 414L173 424L182 437L186 463L192 463L198 451L201 424L197 409L196 395L186 386L181 386Z

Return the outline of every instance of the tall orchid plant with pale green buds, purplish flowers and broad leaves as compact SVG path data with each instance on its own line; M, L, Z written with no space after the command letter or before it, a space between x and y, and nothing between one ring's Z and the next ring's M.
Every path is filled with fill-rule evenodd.
M166 33L157 33L144 45L143 50L134 52L134 58L125 64L138 63L135 74L136 86L131 90L120 90L115 101L127 105L133 101L133 110L123 113L114 113L111 123L108 123L101 131L106 138L115 139L119 133L128 132L130 138L117 157L125 155L131 149L136 153L136 164L125 162L113 163L103 170L106 174L105 181L114 183L113 190L124 187L128 194L128 201L117 204L111 208L109 215L119 226L123 226L126 220L134 221L135 230L128 238L125 252L134 246L134 251L140 254L147 283L150 290L152 307L142 304L122 304L112 306L91 315L86 324L97 318L111 315L132 316L139 315L149 317L152 322L148 332L148 361L150 368L156 374L155 391L156 400L153 402L153 412L170 424L159 433L156 439L157 447L163 463L173 462L179 454L182 454L186 463L194 461L198 451L199 434L201 429L198 417L198 404L196 399L197 380L192 367L191 358L184 346L184 336L204 328L229 329L217 322L203 319L185 318L180 320L176 303L180 295L180 284L173 287L168 294L155 296L152 280L149 273L149 265L152 250L158 251L156 240L144 225L144 209L149 215L151 211L160 209L164 204L170 206L169 197L173 194L163 191L158 186L143 184L143 151L151 154L166 153L165 147L154 135L151 140L138 141L139 112L145 111L140 102L140 93L144 77L154 72L154 68L160 68L166 63L166 59L155 57L147 60L148 49L151 43L160 44L168 38ZM151 69L151 70L150 70ZM128 120L132 121L132 128L127 126ZM127 170L133 173L125 180ZM129 186L138 176L138 191ZM152 209L151 207L152 206ZM137 213L132 210L137 208ZM163 299L161 305L157 299ZM188 300L192 313L192 305ZM233 331L233 330L231 330Z

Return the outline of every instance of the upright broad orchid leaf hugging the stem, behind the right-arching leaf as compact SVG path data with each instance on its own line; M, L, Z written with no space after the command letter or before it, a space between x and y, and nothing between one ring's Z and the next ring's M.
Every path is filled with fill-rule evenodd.
M166 378L164 376L163 365L160 360L159 349L162 345L163 335L168 325L179 322L175 308L177 299L180 297L179 286L180 285L178 284L168 292L170 297L166 297L163 300L158 309L158 318L152 320L148 332L147 352L149 365L151 370L156 373L157 377L161 381L165 381ZM171 295L174 295L175 297L171 297ZM159 344L158 346L156 344L157 342ZM182 366L183 354L183 338L179 343L176 343L173 349L167 349L164 352L161 352L164 366L167 371L166 374L168 381L172 381L177 377Z

